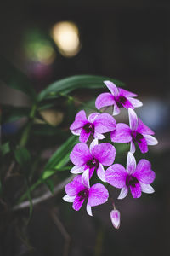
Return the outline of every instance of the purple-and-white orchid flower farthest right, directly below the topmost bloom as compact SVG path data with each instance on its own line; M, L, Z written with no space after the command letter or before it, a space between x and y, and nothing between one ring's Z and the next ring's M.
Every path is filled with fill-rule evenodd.
M138 143L142 153L148 152L148 145L156 145L158 142L151 136L154 131L144 125L133 109L128 109L130 127L126 124L117 124L116 130L111 132L111 141L114 143L131 143L130 151L135 152L134 143Z

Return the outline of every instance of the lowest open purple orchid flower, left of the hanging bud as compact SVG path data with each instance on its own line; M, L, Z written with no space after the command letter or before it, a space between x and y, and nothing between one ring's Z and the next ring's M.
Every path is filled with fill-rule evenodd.
M73 202L73 209L79 211L82 207L83 201L88 200L87 212L92 216L91 207L99 206L104 204L109 197L107 189L102 184L94 184L91 188L89 185L88 172L82 177L77 175L65 186L65 192L67 195L63 197L65 201Z

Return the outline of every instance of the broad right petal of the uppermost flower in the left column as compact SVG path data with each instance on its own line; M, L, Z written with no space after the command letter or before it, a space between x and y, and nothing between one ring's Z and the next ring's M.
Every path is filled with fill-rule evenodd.
M109 113L100 113L94 120L95 131L105 133L116 128L116 120Z

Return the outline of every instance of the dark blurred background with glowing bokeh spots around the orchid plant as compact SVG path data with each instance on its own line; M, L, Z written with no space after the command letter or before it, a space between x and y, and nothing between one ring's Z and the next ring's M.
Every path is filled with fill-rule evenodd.
M156 171L153 185L156 193L143 194L139 200L128 195L117 202L122 213L120 230L114 230L111 225L109 205L96 207L94 218L90 218L84 209L71 210L70 204L68 207L60 200L61 193L57 199L34 207L24 235L15 228L14 222L17 219L17 226L22 230L20 219L26 212L15 212L17 218L10 217L14 218L13 224L7 224L0 235L1 256L63 255L65 232L60 232L59 223L54 224L51 207L57 208L59 222L71 237L71 256L169 255L169 24L169 1L1 3L0 55L26 73L37 91L56 79L75 74L120 79L127 90L137 93L144 102L137 113L156 131L159 141L156 147L150 147L147 156ZM8 89L3 83L0 102L15 106L29 104L24 94ZM117 190L113 190L115 199Z

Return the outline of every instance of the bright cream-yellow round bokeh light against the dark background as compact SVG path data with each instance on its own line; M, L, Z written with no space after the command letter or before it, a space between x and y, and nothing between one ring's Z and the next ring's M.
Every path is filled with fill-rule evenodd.
M62 21L54 25L52 37L59 48L61 55L72 57L81 49L79 31L75 23Z

